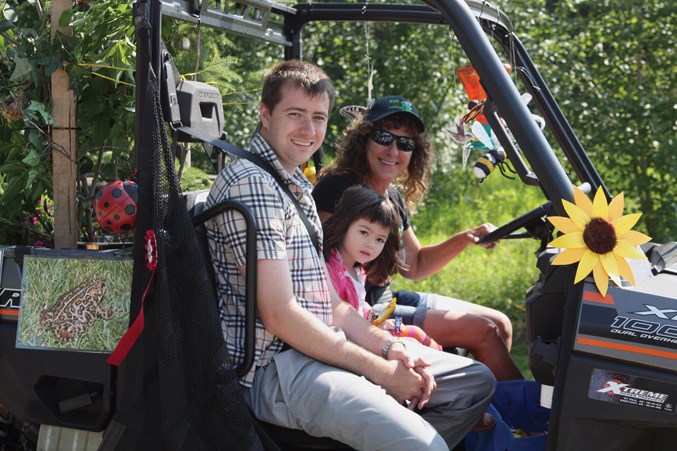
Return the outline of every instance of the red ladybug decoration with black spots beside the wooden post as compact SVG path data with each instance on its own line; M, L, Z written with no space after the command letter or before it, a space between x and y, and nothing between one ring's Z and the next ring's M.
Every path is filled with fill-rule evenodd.
M139 187L132 181L115 180L94 197L96 222L106 232L129 232L136 226Z

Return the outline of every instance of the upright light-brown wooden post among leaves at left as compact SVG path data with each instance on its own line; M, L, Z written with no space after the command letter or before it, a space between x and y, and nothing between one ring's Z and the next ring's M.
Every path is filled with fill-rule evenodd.
M71 0L52 0L52 40L57 31L72 34L59 27L59 17L73 7ZM54 247L74 249L77 246L78 223L76 215L75 180L77 177L77 137L75 127L75 100L68 87L68 74L58 69L52 74L52 180L54 185Z

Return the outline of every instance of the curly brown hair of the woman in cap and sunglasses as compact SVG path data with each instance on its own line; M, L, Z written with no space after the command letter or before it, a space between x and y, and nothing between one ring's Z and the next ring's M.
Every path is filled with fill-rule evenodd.
M418 125L407 114L393 114L377 122L363 118L355 119L346 128L336 149L336 160L321 175L336 174L347 176L357 183L367 184L370 168L367 162L367 140L372 130L379 128L397 129L407 126L418 130ZM409 166L404 174L395 180L396 186L403 189L409 209L414 209L423 199L430 183L430 137L427 132L419 132L414 137L414 149Z

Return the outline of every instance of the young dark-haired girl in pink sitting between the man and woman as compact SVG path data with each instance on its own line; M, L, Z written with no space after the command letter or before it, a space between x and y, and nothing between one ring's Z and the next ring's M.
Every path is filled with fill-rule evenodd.
M371 319L365 301L367 276L383 285L403 264L400 255L399 215L395 206L371 188L348 188L336 211L323 225L324 258L331 282L338 295L362 316ZM383 314L379 315L380 323ZM400 337L411 337L426 346L442 350L417 326L388 320L386 330Z

